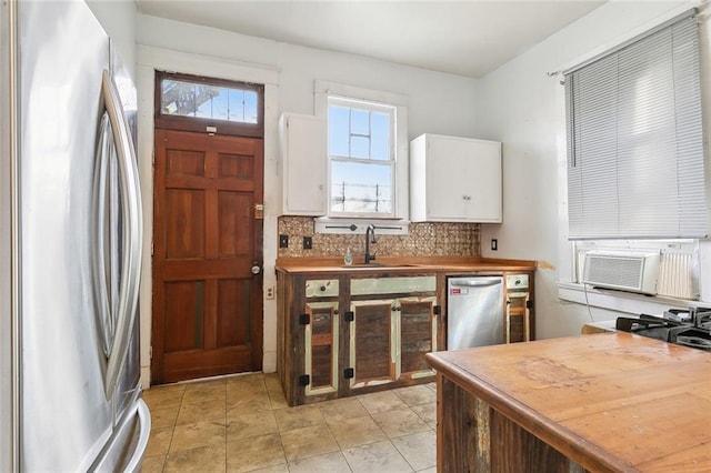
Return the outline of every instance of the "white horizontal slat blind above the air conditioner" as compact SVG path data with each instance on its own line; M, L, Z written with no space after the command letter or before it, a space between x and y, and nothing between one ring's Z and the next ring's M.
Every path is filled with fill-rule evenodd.
M690 11L565 72L569 239L705 238Z

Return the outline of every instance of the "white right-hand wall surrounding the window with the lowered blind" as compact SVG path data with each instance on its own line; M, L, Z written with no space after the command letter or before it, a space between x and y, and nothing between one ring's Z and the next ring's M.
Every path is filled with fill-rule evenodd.
M559 300L559 281L570 281L565 208L565 110L562 71L603 52L651 27L700 4L699 1L611 1L528 52L482 78L478 89L475 128L480 138L503 142L504 203L500 225L482 225L485 256L539 260L535 275L538 338L580 333L581 325L614 318L612 312ZM702 23L704 111L711 113L710 26ZM484 119L485 118L485 119ZM707 120L707 135L709 123ZM708 150L707 150L708 151ZM499 251L490 250L490 239ZM708 260L709 243L703 243ZM708 268L708 266L707 266ZM711 281L702 296L711 300ZM625 301L621 310L643 312L648 301ZM662 302L660 306L674 306ZM653 309L653 308L652 308ZM657 311L654 311L657 313Z

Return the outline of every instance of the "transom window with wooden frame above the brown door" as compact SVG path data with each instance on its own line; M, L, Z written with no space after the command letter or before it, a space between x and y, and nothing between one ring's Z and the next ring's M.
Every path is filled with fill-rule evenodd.
M263 137L264 87L156 72L157 128Z

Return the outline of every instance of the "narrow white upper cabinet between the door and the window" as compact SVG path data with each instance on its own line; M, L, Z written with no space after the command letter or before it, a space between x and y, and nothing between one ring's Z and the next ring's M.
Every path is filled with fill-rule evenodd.
M327 125L312 115L279 119L282 215L326 215Z

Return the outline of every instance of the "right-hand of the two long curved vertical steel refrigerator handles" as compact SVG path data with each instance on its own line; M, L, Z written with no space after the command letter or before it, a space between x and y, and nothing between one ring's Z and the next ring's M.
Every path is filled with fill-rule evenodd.
M103 71L102 95L118 157L119 185L121 188L121 215L123 222L121 282L119 286L119 308L114 336L109 355L104 391L110 399L121 374L133 330L141 270L141 238L143 233L141 217L141 195L129 124L123 113L121 99L109 71Z

